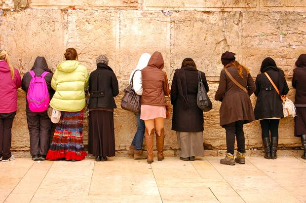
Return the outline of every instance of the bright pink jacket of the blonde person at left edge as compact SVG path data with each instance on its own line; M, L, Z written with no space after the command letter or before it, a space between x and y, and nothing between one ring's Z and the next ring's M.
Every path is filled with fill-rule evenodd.
M15 69L12 80L6 61L0 61L0 113L12 113L17 110L17 89L21 86L19 71Z

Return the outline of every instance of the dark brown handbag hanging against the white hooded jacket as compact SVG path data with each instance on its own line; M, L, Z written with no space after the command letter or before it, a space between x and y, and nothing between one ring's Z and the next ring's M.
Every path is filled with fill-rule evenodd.
M136 71L137 70L135 70L135 72ZM121 108L127 111L132 111L134 113L139 113L141 107L141 96L137 95L133 89L133 78L135 72L133 73L129 86L124 89L124 96L121 101Z

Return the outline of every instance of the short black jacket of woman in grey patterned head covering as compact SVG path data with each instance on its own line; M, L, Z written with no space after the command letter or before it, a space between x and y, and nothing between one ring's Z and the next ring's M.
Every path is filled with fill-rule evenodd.
M117 77L109 66L97 64L97 69L89 77L88 108L116 108L114 97L119 94Z

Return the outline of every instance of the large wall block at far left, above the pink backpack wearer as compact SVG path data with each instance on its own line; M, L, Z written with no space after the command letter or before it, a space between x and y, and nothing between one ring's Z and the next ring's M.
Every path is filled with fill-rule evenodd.
M27 9L0 17L0 47L21 73L30 70L37 56L44 56L55 69L63 59L63 16L60 10Z

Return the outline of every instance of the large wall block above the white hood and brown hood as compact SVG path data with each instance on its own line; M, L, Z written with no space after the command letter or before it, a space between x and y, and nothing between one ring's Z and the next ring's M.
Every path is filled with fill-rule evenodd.
M129 79L143 53L161 52L170 73L170 17L161 12L121 11L117 73Z

